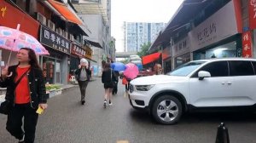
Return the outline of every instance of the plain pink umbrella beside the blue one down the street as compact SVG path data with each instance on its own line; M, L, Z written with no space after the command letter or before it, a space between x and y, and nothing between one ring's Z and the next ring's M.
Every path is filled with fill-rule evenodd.
M135 64L128 63L125 66L126 66L126 69L125 69L124 75L126 78L134 79L135 77L137 77L139 70Z

